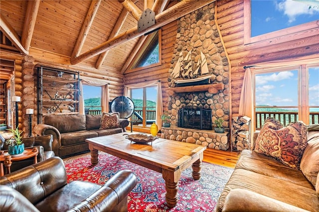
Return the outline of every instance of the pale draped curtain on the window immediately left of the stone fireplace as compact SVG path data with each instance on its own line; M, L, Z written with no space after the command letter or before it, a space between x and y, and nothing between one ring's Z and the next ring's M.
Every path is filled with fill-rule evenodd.
M160 128L161 126L161 119L160 116L163 112L163 98L162 98L162 92L161 92L161 82L160 80L157 81L151 81L151 82L145 82L145 83L137 83L137 84L131 84L126 85L124 87L124 96L130 97L130 91L129 89L134 88L144 88L147 86L157 86L158 94L157 94L157 100L156 100L156 124Z

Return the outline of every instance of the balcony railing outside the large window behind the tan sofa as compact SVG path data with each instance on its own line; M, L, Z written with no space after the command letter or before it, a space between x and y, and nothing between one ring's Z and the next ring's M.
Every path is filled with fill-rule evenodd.
M298 112L256 112L255 113L255 126L256 129L261 129L264 125L265 119L274 117L279 120L284 126L291 122L298 121ZM309 124L319 123L319 112L310 112Z

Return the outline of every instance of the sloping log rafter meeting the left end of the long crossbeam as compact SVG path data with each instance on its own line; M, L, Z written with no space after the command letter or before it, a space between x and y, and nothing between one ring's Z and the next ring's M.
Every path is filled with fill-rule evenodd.
M71 55L71 58L79 56L81 49L83 47L84 41L86 39L86 36L89 33L89 30L91 28L92 22L94 20L94 17L96 15L96 12L99 9L101 0L92 0L89 11L85 17L85 20L83 22L80 34L78 36L78 39L74 45L74 49Z

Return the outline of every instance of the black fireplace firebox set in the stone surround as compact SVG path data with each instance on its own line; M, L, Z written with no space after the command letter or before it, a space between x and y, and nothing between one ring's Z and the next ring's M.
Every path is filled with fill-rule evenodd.
M180 108L178 110L178 127L211 130L211 110L202 108Z

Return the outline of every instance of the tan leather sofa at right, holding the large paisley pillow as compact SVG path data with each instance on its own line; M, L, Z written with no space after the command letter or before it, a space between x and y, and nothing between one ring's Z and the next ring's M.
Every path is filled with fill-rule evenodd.
M243 150L216 212L319 212L318 171L319 129L308 132L301 170Z

